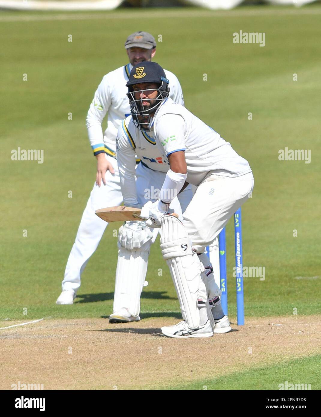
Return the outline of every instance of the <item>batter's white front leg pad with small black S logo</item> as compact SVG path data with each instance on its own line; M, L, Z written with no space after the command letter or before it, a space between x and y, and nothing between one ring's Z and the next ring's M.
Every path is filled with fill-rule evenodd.
M188 327L197 329L200 325L197 300L207 301L205 285L201 280L204 268L192 252L185 227L174 216L161 218L161 250L171 272L183 319Z

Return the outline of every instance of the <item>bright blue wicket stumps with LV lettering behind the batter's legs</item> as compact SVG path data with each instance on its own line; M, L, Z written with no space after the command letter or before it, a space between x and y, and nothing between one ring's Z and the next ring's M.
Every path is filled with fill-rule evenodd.
M242 219L241 208L234 214L234 243L235 243L235 266L236 266L236 310L237 324L244 325L244 292L243 292L243 257L242 257ZM226 275L226 239L225 228L218 235L218 250L220 262L220 284L221 284L221 304L224 314L228 315L227 301L227 275ZM210 249L207 246L206 251L209 254Z

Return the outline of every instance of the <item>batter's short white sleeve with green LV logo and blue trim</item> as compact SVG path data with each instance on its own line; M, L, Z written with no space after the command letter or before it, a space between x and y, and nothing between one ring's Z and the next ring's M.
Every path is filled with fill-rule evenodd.
M179 114L163 114L155 126L155 137L166 157L185 151L185 121Z

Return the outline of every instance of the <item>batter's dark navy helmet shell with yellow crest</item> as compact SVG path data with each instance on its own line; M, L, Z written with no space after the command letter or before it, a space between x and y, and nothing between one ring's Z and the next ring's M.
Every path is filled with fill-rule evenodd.
M165 71L161 65L158 65L156 62L144 61L133 66L126 87L140 83L161 84L163 81L169 84L169 80L166 78Z

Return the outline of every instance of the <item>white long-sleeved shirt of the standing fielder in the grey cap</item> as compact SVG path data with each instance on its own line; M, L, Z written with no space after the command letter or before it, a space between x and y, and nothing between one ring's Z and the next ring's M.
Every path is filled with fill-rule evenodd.
M130 63L117 68L106 74L98 85L86 120L89 141L94 155L105 152L115 157L115 140L118 128L123 119L130 115L126 83L132 68ZM176 75L170 71L164 71L169 80L170 97L183 106L183 92ZM107 128L103 133L102 122L107 112Z

